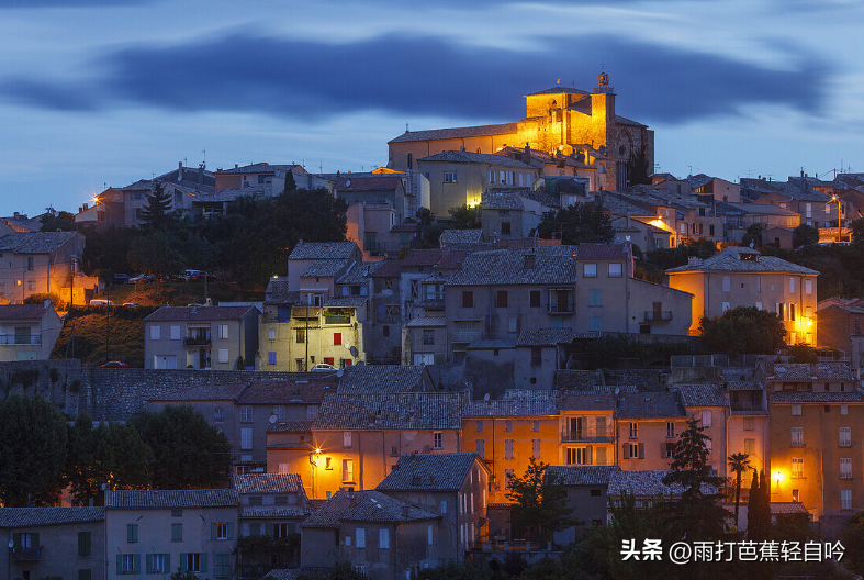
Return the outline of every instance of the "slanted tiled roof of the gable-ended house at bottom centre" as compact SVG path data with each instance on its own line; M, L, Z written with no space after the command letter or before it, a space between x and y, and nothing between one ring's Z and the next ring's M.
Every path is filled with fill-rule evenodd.
M469 477L476 454L408 454L375 488L379 491L457 491Z

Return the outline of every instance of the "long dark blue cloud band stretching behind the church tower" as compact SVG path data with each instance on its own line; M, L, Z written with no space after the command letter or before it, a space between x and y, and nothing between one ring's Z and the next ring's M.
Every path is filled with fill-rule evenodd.
M98 81L0 83L0 94L52 109L123 103L172 111L255 111L296 119L382 111L513 120L520 96L561 79L590 90L605 63L618 113L680 123L736 114L753 103L818 113L828 67L789 48L790 69L609 35L543 38L538 52L385 36L345 44L233 35L175 46L125 48L94 64ZM89 91L89 98L87 97Z

